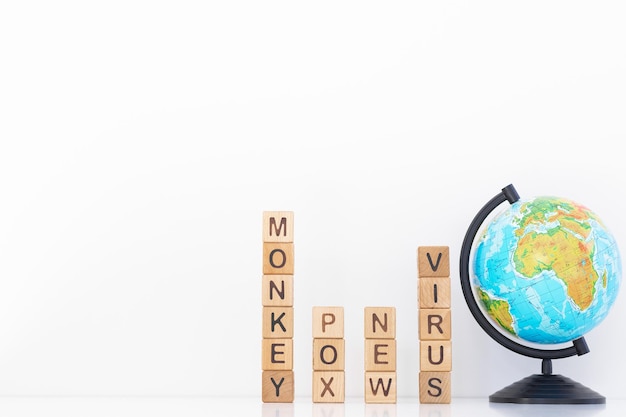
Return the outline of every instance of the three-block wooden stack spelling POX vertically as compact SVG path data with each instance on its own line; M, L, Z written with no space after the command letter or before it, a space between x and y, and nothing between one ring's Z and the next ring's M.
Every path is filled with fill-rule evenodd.
M343 307L313 307L314 403L345 399L345 340Z

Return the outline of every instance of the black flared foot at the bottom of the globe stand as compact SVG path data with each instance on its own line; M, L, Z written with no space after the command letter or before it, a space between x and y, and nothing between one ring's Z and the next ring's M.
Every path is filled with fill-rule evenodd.
M606 404L606 398L562 375L534 374L489 396L492 403Z

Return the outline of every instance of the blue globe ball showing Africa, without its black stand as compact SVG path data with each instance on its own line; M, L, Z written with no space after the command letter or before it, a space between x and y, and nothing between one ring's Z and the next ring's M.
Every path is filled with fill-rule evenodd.
M620 287L614 237L585 206L564 198L519 200L476 242L476 298L503 333L527 342L573 341L607 316Z

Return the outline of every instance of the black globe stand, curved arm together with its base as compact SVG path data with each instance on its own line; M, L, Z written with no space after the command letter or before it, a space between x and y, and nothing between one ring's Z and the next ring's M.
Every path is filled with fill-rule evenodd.
M500 204L508 201L510 204L519 200L519 194L509 184L502 192L493 197L476 214L467 229L459 262L461 288L467 306L480 327L496 342L513 352L531 358L541 359L541 374L530 375L489 396L493 403L517 404L605 404L606 398L584 385L562 375L552 373L552 359L562 359L575 355L584 355L589 352L587 342L583 337L572 342L572 346L561 349L537 349L525 346L504 336L483 315L474 297L469 278L469 262L472 244L485 219Z

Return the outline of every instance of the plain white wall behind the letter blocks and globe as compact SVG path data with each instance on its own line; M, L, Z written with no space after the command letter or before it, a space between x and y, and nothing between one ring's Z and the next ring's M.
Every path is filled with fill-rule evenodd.
M311 307L397 308L416 397L418 246L450 247L453 395L540 363L458 282L513 183L594 210L626 248L621 1L4 2L0 394L260 396L261 214L295 212L296 395ZM620 145L620 143L622 143ZM626 249L624 249L626 250ZM618 297L555 372L624 398Z

